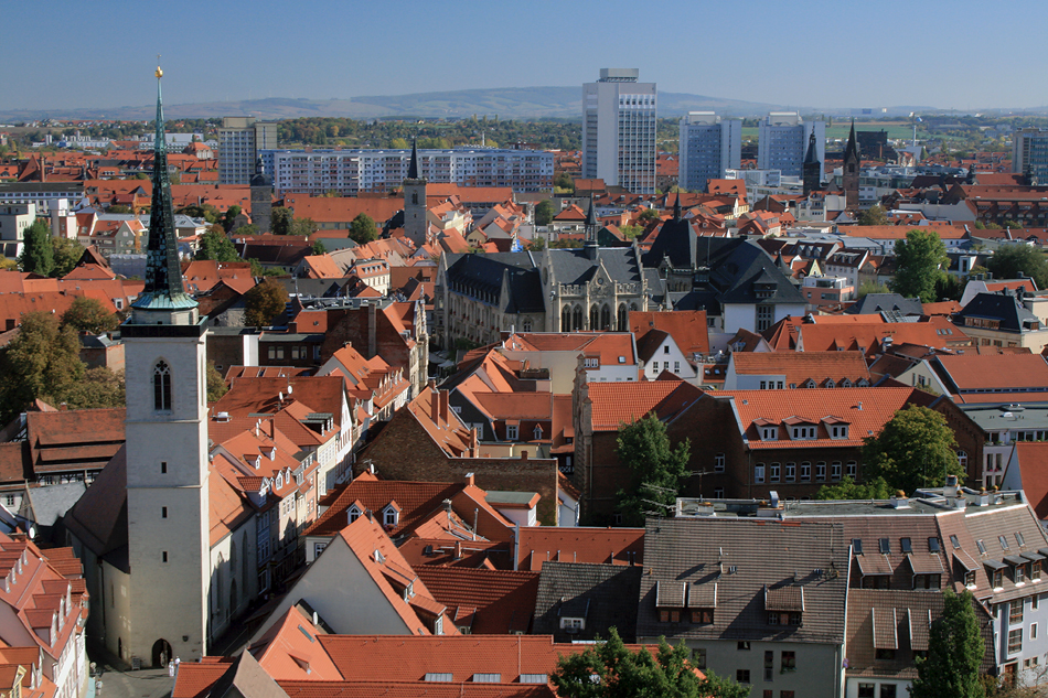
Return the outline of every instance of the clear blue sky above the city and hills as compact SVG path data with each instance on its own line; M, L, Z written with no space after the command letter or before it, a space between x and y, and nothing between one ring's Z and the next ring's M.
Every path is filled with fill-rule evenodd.
M2 3L0 110L575 86L795 107L1048 105L1042 0ZM15 39L17 36L17 39Z

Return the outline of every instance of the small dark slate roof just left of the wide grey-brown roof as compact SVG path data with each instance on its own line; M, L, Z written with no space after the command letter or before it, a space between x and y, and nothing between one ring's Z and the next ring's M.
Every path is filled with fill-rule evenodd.
M614 627L623 642L634 642L643 571L639 566L543 562L532 632L571 642L608 637ZM562 616L584 618L585 627L574 634L562 631Z

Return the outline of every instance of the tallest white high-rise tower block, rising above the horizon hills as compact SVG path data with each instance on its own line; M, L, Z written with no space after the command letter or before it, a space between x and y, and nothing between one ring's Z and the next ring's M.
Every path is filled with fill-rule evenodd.
M638 68L600 68L582 85L582 176L653 194L657 95L638 77Z

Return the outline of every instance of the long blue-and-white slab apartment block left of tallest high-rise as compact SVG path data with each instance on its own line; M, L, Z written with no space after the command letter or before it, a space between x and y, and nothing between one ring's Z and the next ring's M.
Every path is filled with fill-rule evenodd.
M343 196L388 192L408 179L410 150L266 150L263 171L278 196L285 193ZM654 162L654 159L652 160ZM654 173L654 171L653 171ZM553 153L539 150L456 148L419 150L419 179L430 184L509 186L515 192L553 191Z

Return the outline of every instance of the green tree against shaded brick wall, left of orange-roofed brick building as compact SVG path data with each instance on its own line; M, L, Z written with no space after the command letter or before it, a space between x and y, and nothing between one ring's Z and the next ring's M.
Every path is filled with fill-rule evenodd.
M676 502L691 471L691 443L685 439L671 448L666 426L654 412L619 427L619 462L632 471L628 491L619 491L619 511L627 526L643 526L645 512L661 511Z

